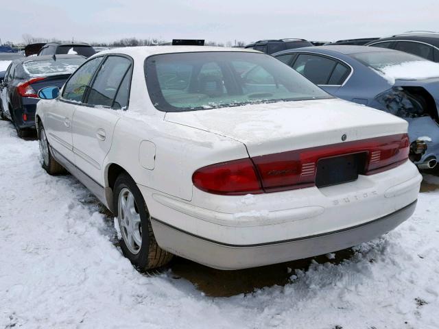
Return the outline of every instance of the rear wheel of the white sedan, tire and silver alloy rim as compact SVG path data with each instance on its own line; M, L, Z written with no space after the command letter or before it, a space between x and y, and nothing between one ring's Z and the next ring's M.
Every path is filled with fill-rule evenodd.
M163 267L169 263L174 255L157 244L150 212L137 184L128 174L119 175L113 195L113 209L121 231L119 243L123 255L141 271Z

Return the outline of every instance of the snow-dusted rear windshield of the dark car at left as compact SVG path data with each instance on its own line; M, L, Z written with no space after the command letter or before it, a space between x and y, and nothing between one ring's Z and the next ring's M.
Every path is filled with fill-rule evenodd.
M23 63L23 69L29 75L71 74L85 62L85 58L57 58L56 60L32 60Z

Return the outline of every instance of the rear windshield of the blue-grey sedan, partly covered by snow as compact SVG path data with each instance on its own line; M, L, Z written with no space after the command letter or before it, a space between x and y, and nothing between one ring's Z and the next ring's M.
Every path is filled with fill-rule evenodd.
M385 66L394 66L407 62L427 61L424 58L403 53L402 51L374 51L370 53L351 53L349 56L373 69L382 69Z

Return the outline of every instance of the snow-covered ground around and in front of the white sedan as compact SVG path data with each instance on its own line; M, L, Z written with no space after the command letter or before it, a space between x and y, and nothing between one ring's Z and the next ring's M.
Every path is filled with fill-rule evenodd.
M47 175L38 143L0 121L0 328L439 328L438 197L420 194L409 221L340 265L207 297L170 270L135 271L86 189Z

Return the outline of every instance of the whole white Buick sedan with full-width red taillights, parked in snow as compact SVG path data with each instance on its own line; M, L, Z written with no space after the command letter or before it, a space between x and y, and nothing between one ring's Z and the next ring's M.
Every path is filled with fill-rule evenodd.
M407 121L257 51L102 51L39 96L41 164L117 216L140 269L173 254L242 269L334 252L416 207Z

